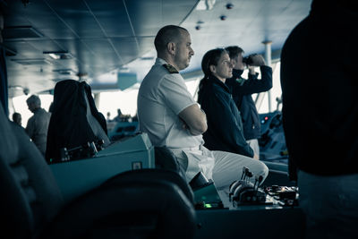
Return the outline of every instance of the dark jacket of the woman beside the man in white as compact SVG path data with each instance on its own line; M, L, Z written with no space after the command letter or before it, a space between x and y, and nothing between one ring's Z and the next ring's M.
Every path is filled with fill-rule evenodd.
M227 86L210 76L200 88L198 101L208 119L208 131L203 134L204 146L253 157L253 151L243 137L240 112Z

